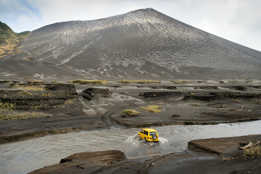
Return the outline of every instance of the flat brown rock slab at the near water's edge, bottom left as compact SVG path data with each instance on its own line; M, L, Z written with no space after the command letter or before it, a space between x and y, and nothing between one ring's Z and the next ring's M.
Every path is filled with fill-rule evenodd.
M69 160L71 159L71 161ZM61 160L62 163L45 166L33 173L93 173L109 167L117 161L127 159L121 151L97 151L75 153ZM67 161L66 161L67 160ZM64 162L65 161L65 162ZM79 165L80 167L78 167Z

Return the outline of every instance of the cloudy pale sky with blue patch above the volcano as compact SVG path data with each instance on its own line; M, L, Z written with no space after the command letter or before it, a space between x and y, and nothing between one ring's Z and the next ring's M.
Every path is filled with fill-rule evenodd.
M260 0L0 0L0 21L15 32L33 31L55 22L93 20L141 8L261 51Z

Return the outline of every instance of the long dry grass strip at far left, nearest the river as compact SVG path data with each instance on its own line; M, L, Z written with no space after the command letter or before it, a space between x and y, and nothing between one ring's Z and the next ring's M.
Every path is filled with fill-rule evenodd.
M23 113L8 113L8 114L0 114L0 121L7 120L23 120L28 118L39 118L39 117L48 117L49 115L44 114L42 112L23 112Z

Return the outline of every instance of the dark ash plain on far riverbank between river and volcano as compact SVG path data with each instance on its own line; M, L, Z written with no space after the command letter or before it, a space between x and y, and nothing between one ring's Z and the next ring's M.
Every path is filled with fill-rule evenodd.
M5 115L41 112L46 117L0 121L0 143L76 130L258 120L261 119L258 84L259 81L243 80L105 85L3 83L2 99L17 105L12 110L3 110ZM39 86L43 91L24 88L28 85ZM25 102L17 103L18 99ZM161 112L139 110L149 105L161 106ZM123 115L126 109L140 114Z

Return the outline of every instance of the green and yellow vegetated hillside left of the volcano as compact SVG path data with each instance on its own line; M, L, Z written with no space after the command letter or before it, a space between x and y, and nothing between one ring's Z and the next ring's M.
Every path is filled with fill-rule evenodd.
M29 34L30 31L15 33L8 25L0 21L0 57L19 53L20 41Z

